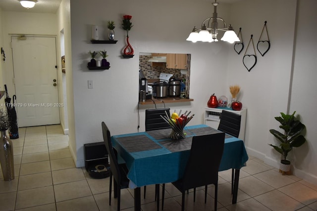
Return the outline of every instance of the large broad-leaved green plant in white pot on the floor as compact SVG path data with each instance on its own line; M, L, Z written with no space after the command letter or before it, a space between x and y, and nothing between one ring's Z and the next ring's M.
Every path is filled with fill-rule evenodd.
M287 160L288 153L293 149L293 147L302 146L306 139L302 135L305 125L301 123L300 120L295 119L295 112L293 114L285 114L281 112L281 116L274 117L281 125L279 128L284 130L284 134L270 129L269 132L273 134L279 141L279 146L270 144L278 153L283 156L281 159L281 168L280 171L284 174L289 172L291 162Z

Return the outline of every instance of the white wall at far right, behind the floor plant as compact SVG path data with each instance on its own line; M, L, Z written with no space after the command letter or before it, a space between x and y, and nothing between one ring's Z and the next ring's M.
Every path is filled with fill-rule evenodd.
M290 111L296 111L306 125L307 143L294 150L294 173L306 180L317 180L317 1L299 0L294 73Z

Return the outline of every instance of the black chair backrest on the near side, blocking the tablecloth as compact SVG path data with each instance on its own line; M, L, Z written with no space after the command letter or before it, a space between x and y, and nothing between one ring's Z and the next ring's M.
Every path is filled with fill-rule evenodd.
M194 136L183 176L183 190L216 184L225 133Z

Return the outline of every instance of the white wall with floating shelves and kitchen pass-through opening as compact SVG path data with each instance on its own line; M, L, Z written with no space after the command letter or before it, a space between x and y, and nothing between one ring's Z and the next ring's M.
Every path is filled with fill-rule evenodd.
M102 121L106 122L112 135L137 132L140 52L191 53L190 98L194 102L166 106L191 110L196 114L191 124L203 123L203 109L211 94L220 96L225 90L228 45L222 42L214 45L193 44L186 38L194 25L200 25L206 16L211 15L211 8L210 2L190 0L71 1L77 166L84 164L85 143L103 141ZM223 18L229 11L225 8L228 8L226 4L219 7L219 12L227 11L223 12ZM133 16L131 22L134 26L129 37L135 56L130 59L121 56L126 45L126 33L121 28L125 14ZM115 21L117 44L91 44L91 25L106 28L107 20ZM100 36L103 39L106 32ZM109 54L110 69L88 70L88 52L100 50L106 50ZM94 89L87 88L88 80L93 80ZM140 106L140 131L145 130L144 109L148 107L154 108L154 105Z

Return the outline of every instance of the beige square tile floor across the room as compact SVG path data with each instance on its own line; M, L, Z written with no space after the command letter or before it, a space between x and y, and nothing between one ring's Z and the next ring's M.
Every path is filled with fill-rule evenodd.
M109 178L90 178L85 168L76 168L68 149L68 136L60 125L19 129L14 145L15 179L0 175L0 211L115 211L108 205ZM278 169L250 157L240 171L238 203L231 205L231 170L219 172L219 211L317 211L317 185L296 176L282 176ZM143 190L143 189L141 189ZM112 195L113 196L113 195ZM186 194L186 210L213 210L214 187ZM133 211L133 190L121 192L121 209ZM143 211L155 211L154 186L147 186ZM165 211L177 211L180 193L166 184Z

